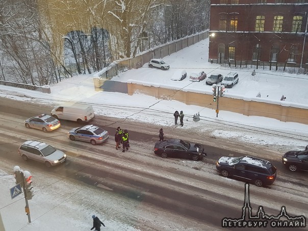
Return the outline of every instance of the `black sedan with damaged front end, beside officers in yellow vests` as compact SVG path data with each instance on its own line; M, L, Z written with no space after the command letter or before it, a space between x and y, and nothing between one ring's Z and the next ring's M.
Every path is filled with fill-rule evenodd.
M183 158L192 159L194 161L202 160L203 156L207 155L207 153L204 152L202 144L190 143L178 139L156 142L154 153L162 158Z

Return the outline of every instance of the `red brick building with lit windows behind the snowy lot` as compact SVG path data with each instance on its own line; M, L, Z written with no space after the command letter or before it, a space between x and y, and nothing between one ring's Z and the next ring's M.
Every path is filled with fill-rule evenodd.
M308 69L308 0L211 0L209 62Z

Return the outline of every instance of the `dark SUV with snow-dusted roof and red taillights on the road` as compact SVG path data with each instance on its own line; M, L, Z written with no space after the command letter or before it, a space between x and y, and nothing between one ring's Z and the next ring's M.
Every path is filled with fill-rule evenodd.
M271 162L255 157L221 157L216 169L225 177L235 177L261 187L274 183L277 170Z

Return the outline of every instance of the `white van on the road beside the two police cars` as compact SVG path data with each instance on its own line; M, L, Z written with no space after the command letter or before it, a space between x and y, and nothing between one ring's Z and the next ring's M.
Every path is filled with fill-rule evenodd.
M52 110L52 116L57 119L71 121L90 121L94 118L92 106L83 104L62 105Z

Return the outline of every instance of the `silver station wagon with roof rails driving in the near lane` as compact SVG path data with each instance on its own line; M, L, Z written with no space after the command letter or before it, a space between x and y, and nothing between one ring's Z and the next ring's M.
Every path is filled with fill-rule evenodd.
M23 160L33 159L44 163L48 168L66 161L66 155L63 151L35 140L28 140L21 144L18 153Z

